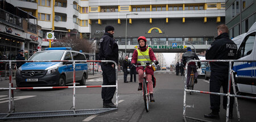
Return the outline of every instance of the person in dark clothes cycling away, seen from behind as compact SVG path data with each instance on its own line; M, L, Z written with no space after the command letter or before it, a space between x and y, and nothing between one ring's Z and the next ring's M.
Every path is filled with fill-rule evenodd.
M199 57L196 55L196 53L192 52L191 47L187 47L187 52L182 54L182 61L183 61L184 65L186 65L189 60L199 60ZM197 66L199 68L201 68L201 63L197 62ZM187 77L187 87L189 85L191 70L193 70L193 73L195 74L194 75L194 81L195 81L195 83L197 83L198 73L197 73L196 69L197 69L196 68L196 62L189 62L189 64L188 64L188 73L187 73L187 76L188 76Z

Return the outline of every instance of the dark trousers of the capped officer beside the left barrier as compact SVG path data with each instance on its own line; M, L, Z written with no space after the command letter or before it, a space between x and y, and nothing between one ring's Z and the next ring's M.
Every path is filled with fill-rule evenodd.
M115 85L115 68L109 64L101 64L103 71L103 83L102 85ZM112 103L113 96L115 94L115 87L102 87L101 98L103 103Z

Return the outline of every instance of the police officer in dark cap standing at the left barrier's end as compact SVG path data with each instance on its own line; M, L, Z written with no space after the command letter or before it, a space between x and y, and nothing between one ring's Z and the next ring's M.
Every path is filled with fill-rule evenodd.
M118 45L113 39L114 27L106 26L104 36L100 40L100 60L112 60L118 63ZM103 83L102 85L115 85L115 67L113 63L101 63L101 69L103 71ZM115 87L102 87L101 98L103 99L104 108L114 108L115 105L112 102L115 93Z

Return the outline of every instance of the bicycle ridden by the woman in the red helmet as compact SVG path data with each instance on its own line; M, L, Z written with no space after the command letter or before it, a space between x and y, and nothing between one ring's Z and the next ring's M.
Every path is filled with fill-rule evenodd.
M146 64L146 65L134 65L135 67L143 66L143 82L142 82L142 94L143 94L143 100L145 105L145 110L148 112L149 110L149 102L150 102L150 93L148 91L148 81L147 81L147 75L146 75L146 67L147 66L154 66L155 63L152 62L152 64Z

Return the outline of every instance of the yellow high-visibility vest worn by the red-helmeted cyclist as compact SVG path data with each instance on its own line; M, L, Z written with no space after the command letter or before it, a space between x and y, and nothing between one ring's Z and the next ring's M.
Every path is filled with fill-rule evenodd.
M149 47L147 48L146 51L141 52L139 49L137 49L138 52L138 59L137 59L137 64L142 64L143 63L151 63L152 61L150 60L149 56Z

